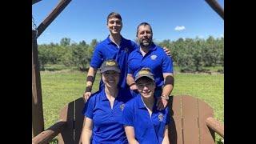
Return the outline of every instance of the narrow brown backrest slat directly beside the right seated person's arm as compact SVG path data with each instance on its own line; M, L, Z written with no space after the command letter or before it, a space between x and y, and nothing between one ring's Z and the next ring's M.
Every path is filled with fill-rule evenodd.
M182 97L171 96L169 101L170 125L169 139L170 143L182 144Z

